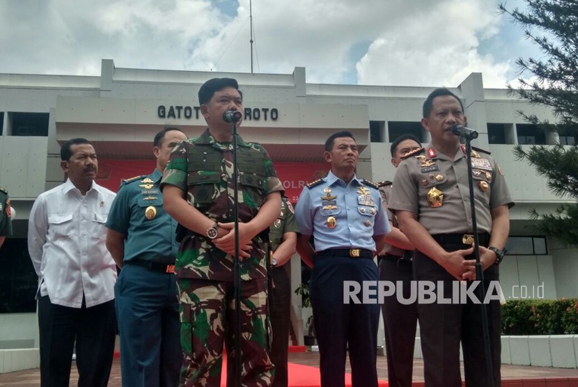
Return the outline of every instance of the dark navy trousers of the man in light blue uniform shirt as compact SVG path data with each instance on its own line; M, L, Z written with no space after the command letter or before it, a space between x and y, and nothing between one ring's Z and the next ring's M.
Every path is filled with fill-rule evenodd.
M377 326L380 306L344 303L343 282L374 281L377 265L370 258L315 256L311 305L319 344L322 387L345 386L349 351L353 387L377 387ZM361 299L361 297L359 297Z

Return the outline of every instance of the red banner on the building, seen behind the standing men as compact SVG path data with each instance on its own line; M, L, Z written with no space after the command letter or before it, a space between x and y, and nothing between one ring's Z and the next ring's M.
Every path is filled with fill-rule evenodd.
M98 161L98 176L96 182L102 187L117 191L122 179L139 175L148 175L155 169L155 160L119 160L100 159ZM292 203L296 203L303 186L308 182L327 176L327 163L274 163L275 170L285 194Z

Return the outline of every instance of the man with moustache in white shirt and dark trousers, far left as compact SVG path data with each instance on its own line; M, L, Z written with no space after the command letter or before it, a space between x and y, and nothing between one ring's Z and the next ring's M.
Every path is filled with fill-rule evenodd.
M68 386L76 341L79 386L107 386L114 356L116 267L104 240L114 192L94 182L98 161L86 139L62 145L68 180L40 194L28 248L38 275L40 384Z

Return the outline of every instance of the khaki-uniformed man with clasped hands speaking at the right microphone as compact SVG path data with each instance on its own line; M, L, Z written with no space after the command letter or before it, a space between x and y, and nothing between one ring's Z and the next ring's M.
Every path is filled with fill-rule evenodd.
M402 161L389 202L400 230L416 247L415 278L433 281L436 286L443 281L445 299L452 299L454 281L476 278L465 147L451 132L453 125L466 123L456 95L446 88L430 93L423 104L421 124L432 142ZM513 200L496 161L481 150L471 153L480 258L488 289L489 281L499 279L498 264L510 231ZM494 386L499 386L501 317L497 297L486 308ZM461 386L461 341L466 384L487 386L481 306L469 297L463 304L419 303L418 314L425 384Z

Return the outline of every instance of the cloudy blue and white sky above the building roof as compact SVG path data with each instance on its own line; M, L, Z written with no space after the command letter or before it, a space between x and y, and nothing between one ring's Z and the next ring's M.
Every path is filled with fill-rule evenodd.
M503 0L508 9L524 0ZM514 86L540 57L495 0L253 0L253 72L321 84ZM249 0L0 0L0 73L251 72Z

